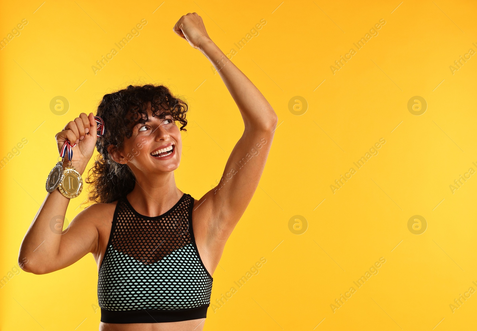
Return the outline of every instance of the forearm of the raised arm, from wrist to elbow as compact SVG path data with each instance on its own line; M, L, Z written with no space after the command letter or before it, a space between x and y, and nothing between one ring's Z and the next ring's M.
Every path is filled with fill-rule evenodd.
M277 124L277 115L249 78L227 58L212 40L207 39L199 49L212 62L237 103L245 128L274 130Z

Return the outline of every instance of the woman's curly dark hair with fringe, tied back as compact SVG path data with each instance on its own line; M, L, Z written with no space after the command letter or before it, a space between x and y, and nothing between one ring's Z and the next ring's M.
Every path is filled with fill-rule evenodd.
M113 160L107 148L123 148L124 138L130 138L136 124L148 120L147 107L151 103L152 116L164 118L170 114L180 123L180 130L187 125L188 104L175 97L164 85L129 85L123 90L105 94L98 105L96 115L104 121L104 135L98 137L93 167L88 171L85 182L89 186L88 202L110 203L131 192L135 176L127 164Z

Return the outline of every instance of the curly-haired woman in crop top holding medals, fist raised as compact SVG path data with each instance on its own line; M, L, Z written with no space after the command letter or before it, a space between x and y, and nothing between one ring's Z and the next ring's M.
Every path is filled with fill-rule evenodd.
M60 154L72 146L64 174L71 165L78 179L96 146L87 179L94 203L62 231L70 201L65 186L76 176L68 170L70 184L64 175L59 188L50 187L20 248L22 269L34 274L93 254L102 331L203 329L212 275L257 188L277 124L270 103L209 38L197 13L182 16L174 32L213 63L245 125L218 186L198 200L177 188L187 104L165 86L130 85L104 95L98 106L104 135L97 137L93 113L56 134Z

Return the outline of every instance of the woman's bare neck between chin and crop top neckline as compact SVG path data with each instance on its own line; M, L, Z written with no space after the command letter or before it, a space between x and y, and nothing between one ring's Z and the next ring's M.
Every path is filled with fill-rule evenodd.
M155 178L136 178L127 200L142 215L155 217L164 214L179 201L183 192L176 186L174 172Z

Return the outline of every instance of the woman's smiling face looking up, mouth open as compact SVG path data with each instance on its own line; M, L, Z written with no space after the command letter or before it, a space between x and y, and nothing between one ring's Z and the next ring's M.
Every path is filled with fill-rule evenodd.
M148 120L136 124L132 136L124 138L123 151L115 153L119 163L127 163L136 178L140 174L168 173L177 169L182 152L180 130L170 114L164 118L152 116L147 108Z

